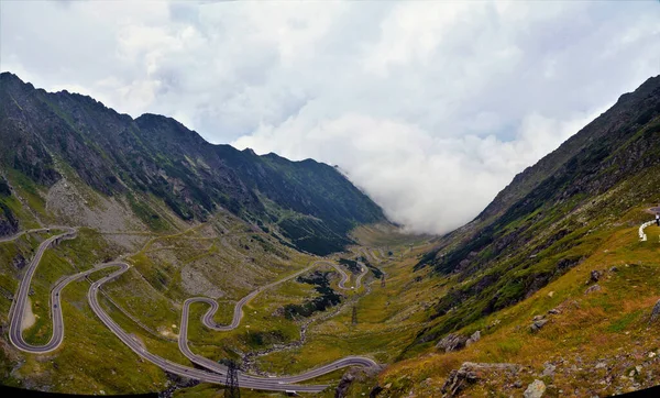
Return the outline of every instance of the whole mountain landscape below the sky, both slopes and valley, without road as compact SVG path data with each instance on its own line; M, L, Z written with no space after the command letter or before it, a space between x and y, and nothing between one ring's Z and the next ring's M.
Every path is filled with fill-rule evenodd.
M330 372L319 396L604 396L660 384L660 228L647 225L660 207L660 76L442 236L403 234L337 167L210 144L174 119L132 119L10 73L0 142L3 330L35 250L51 229L76 229L33 278L33 344L52 334L57 283L125 261L101 307L168 361L190 365L176 341L182 303L202 296L221 311L209 320L194 305L188 334L212 363L264 377L354 355L383 365ZM90 311L88 288L64 290L58 351L0 340L3 384L217 394L135 360Z

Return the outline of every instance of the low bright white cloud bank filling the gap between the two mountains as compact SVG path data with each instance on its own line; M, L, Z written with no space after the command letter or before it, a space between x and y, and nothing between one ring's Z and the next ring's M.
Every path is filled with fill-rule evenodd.
M233 144L340 167L381 203L393 221L447 232L483 209L512 176L558 147L594 114L558 122L532 113L513 141L494 135L439 137L392 120L345 114L308 123L305 114L261 126Z

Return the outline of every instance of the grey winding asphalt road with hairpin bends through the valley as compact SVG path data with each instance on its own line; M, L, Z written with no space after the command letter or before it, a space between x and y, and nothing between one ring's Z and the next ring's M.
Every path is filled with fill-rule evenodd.
M89 301L89 305L90 305L92 311L95 312L95 314L101 320L101 322L103 322L103 324L108 329L110 329L110 331L112 333L114 333L114 335L117 335L135 354L138 354L140 357L155 364L156 366L158 366L167 372L180 375L180 376L199 379L200 382L224 384L227 368L220 364L217 364L216 362L213 362L209 358L196 355L188 347L188 343L187 343L188 314L189 314L189 307L193 302L200 301L200 302L206 302L211 306L210 309L202 316L201 321L205 325L207 325L208 328L210 328L212 330L217 330L217 331L229 331L229 330L235 329L240 324L240 321L243 317L243 311L242 311L243 306L245 303L250 302L250 300L252 300L260 291L268 289L271 287L274 287L274 286L282 284L286 280L289 280L292 278L295 278L298 275L301 275L302 273L309 270L310 268L312 268L315 266L326 264L326 265L330 265L330 266L334 267L342 275L342 280L340 281L340 287L342 289L346 289L344 286L344 283L349 279L349 275L345 272L343 272L338 265L330 263L330 262L323 262L323 261L315 262L311 266L304 268L293 275L289 275L280 280L277 280L270 285L261 287L261 288L252 291L244 298L242 298L239 302L237 302L237 305L234 307L233 319L232 319L231 324L229 324L229 325L219 325L213 321L213 314L217 312L217 310L219 308L217 301L215 301L210 298L205 298L205 297L187 299L184 302L184 310L182 313L182 328L180 328L180 335L179 335L179 340L178 340L179 350L193 363L200 365L202 367L206 367L207 369L212 371L212 372L207 372L207 371L180 365L180 364L170 362L168 360L165 360L158 355L150 353L138 340L135 340L129 333L127 333L123 329L121 329L119 327L119 324L117 322L114 322L111 319L111 317L103 311L103 309L101 308L101 306L98 301L98 292L100 290L100 287L103 284L106 284L110 280L113 280L114 278L117 278L118 276L123 274L125 270L128 270L130 267L127 263L122 263L122 262L106 263L106 264L98 265L91 269L87 269L81 273L70 275L56 284L56 286L51 291L51 316L52 316L52 322L53 322L53 335L52 335L51 340L44 345L32 345L23 340L23 335L21 332L22 318L23 318L23 313L24 313L25 307L26 307L26 300L28 300L28 295L30 291L30 285L32 283L32 277L34 276L36 267L38 266L41 258L42 258L45 250L48 246L51 246L53 243L58 242L63 239L74 239L76 236L75 229L70 229L70 228L61 228L61 229L64 229L66 232L63 234L59 234L59 235L51 236L47 240L45 240L44 242L42 242L42 244L40 244L40 246L35 253L35 256L30 262L30 264L25 270L25 274L23 275L23 278L20 281L16 297L12 302L12 308L10 309L10 333L9 333L10 341L14 346L16 346L19 350L22 350L24 352L34 353L34 354L43 354L43 353L54 351L62 344L62 341L64 339L64 320L63 320L62 306L61 306L61 292L68 284L70 284L72 281L74 281L78 278L81 278L91 273L95 273L97 270L106 269L109 267L119 267L119 269L116 270L114 273L112 273L108 276L105 276L105 277L96 280L95 283L92 283L89 288L89 291L87 294L87 299ZM46 229L43 229L43 230L46 230ZM33 231L41 231L41 229L25 231L25 232L33 232ZM23 232L23 233L25 233L25 232ZM16 234L16 235L12 236L12 239L18 239L23 233ZM364 269L366 269L366 267L363 267L363 270ZM364 274L365 274L365 272L363 272L363 274L361 274L359 276L359 278L356 279L356 281L355 281L356 287L360 287L360 279L362 278L362 276L364 276ZM348 367L348 366L371 367L371 366L377 366L377 363L375 363L373 360L367 358L367 357L348 356L348 357L338 360L331 364L327 364L327 365L317 367L315 369L311 369L309 372L306 372L304 374L296 375L296 376L263 378L263 377L256 377L256 376L251 376L251 375L240 373L239 374L239 383L242 387L262 389L262 390L319 393L319 391L322 391L323 389L326 389L328 386L327 385L301 386L301 385L295 385L295 383L305 382L305 380L308 380L308 379L311 379L311 378L315 378L315 377L324 375L327 373L334 372L336 369L339 369L342 367Z

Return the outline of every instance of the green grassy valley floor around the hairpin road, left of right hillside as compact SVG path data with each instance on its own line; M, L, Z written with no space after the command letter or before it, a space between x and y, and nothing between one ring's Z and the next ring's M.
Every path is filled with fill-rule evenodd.
M316 369L315 372L321 376L314 383L331 385L331 388L327 389L328 396L333 395L332 387L337 385L344 371L338 369L322 376L320 365L344 356L354 357L355 354L367 355L383 364L392 362L400 342L411 339L415 330L426 318L421 313L416 313L416 310L407 310L403 300L391 300L393 295L407 290L407 286L404 285L408 280L402 276L402 273L406 274L408 266L402 266L404 263L400 261L415 255L409 247L404 246L400 253L387 254L383 250L353 247L351 253L336 255L333 258L320 262L318 258L293 251L275 252L275 256L273 251L264 251L265 253L260 253L263 256L260 258L254 256L254 252L244 252L254 251L257 245L255 239L260 241L258 234L250 231L227 231L227 233L223 231L220 236L212 236L213 233L205 231L207 228L208 225L197 225L174 235L128 233L133 237L142 237L142 243L140 250L132 255L120 254L117 257L130 264L125 272L118 273L116 280L107 281L105 276L109 272L96 272L89 274L86 277L88 279L72 281L70 287L63 291L61 310L64 312L66 336L62 345L45 354L37 354L38 349L35 349L31 354L21 353L8 344L9 342L4 343L4 355L1 358L6 369L3 383L53 391L96 394L153 391L172 386L177 380L165 377L157 368L154 369L148 361L138 361L138 366L131 365L131 362L135 361L135 354L112 336L112 333L90 312L94 310L97 316L100 316L99 311L107 313L119 330L125 331L132 341L138 342L138 344L132 343L135 344L132 350L136 353L150 352L158 355L163 361L189 366L191 365L189 358L183 356L177 346L177 336L180 335L178 317L182 308L177 299L195 291L182 291L182 285L185 286L183 281L176 286L178 284L167 284L163 279L183 280L186 277L184 275L186 267L190 264L198 266L188 268L188 273L204 275L197 278L197 283L188 283L188 289L201 287L207 292L210 291L211 296L215 292L218 297L218 314L211 322L232 323L231 313L234 312L238 298L241 295L249 298L240 301L243 306L241 308L243 316L234 317L232 328L226 328L220 333L208 328L207 324L211 323L202 324L197 321L207 311L208 306L198 303L190 306L189 341L195 354L211 358L211 364L222 358L237 360L250 372L266 376L266 380L275 375L295 375ZM18 289L18 281L23 278L23 270L29 269L25 264L32 265L30 254L35 251L41 253L47 243L45 237L52 235L24 234L15 242L1 243L0 248L6 259L2 281L7 285L8 292ZM25 344L29 344L24 350L31 351L31 345L43 345L53 335L51 313L57 312L58 307L55 301L48 299L52 287L65 276L75 273L88 274L92 270L91 264L98 263L98 258L108 261L117 256L119 250L107 243L103 239L107 235L116 237L123 233L99 234L92 230L80 229L75 240L62 242L43 251L43 259L35 262L35 265L43 264L38 269L35 268L33 279L26 285L30 289L30 298L25 298L26 312L34 312L33 317L38 321L23 327L22 334ZM228 243L228 240L232 242ZM242 243L246 240L252 248L246 243ZM94 261L86 258L85 255L77 255L81 248L89 248L90 243L94 248L87 255L94 256ZM262 247L267 247L263 245L265 243L263 237L261 243ZM421 247L417 251L420 252ZM74 253L77 262L73 261ZM182 262L183 266L176 264L184 253L188 258ZM253 285L244 286L243 289L239 287L235 289L238 291L231 291L222 288L222 284L227 284L231 275L226 274L224 278L212 278L208 273L216 269L199 266L200 261L208 261L207 257L219 253L229 254L231 261L241 263L240 273L250 272L250 267L258 269L255 263L265 259L275 264L275 268L273 265L270 269L266 268L268 274L257 278L263 281L257 280ZM392 258L398 256L399 262L389 259L391 255ZM354 275L348 275L350 273L348 268L332 263L341 258L359 258L359 256L363 257L365 264L358 262L360 269L353 269ZM21 266L16 269L16 258L23 258L23 269ZM79 264L76 264L78 262ZM168 267L168 264L172 267ZM167 273L163 273L162 268ZM380 274L383 272L385 274L381 278ZM319 298L318 291L321 290L315 289L314 285L309 286L308 281L301 283L299 278L295 278L305 275L322 275L329 278L327 279L330 281L329 288L333 292L340 292L341 302L326 311L312 311L311 316L283 314L283 309L286 310L289 306L301 306ZM211 283L205 283L205 278ZM213 279L216 283L212 283ZM250 280L239 274L235 275L233 283L237 279L239 281L242 279L243 284ZM98 289L100 307L97 308L90 308L84 299L87 286L92 280L102 280L107 284L102 287L92 284L92 289L96 285L100 287ZM165 288L167 285L169 287ZM252 294L244 296L250 291ZM10 292L3 299L4 324L9 322L11 298ZM409 299L415 300L417 297L409 297ZM18 321L18 323L22 322ZM20 328L21 324L18 327ZM87 350L88 355L81 356L75 363L62 362L62 358L70 355L77 356L80 350ZM111 351L112 354L106 351ZM107 357L116 357L117 361L108 363L103 361ZM344 362L350 365L351 361ZM76 368L76 365L81 367ZM130 373L130 377L127 372ZM170 372L176 373L176 369ZM273 379L273 383L276 380ZM193 389L176 389L176 395L204 395L204 390L215 394L212 391L217 388L200 385Z

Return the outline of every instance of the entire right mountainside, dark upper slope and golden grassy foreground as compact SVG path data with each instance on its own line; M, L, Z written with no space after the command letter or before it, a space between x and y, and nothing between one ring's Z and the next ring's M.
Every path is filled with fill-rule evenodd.
M660 76L514 178L414 269L442 287L380 396L607 396L660 384ZM430 273L429 273L430 270Z

